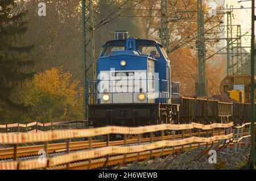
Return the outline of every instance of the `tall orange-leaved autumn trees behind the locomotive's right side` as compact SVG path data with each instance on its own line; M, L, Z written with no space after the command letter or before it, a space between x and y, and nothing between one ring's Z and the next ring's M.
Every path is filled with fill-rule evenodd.
M139 2L139 0L137 0ZM205 37L218 37L218 26L222 20L223 14L217 14L211 17L208 14L207 1L204 1L203 9L205 15L205 31L212 28L212 30L205 33ZM177 48L168 54L171 60L171 76L172 81L181 83L180 93L183 95L195 94L195 83L197 82L197 1L196 0L169 0L168 1L168 28L170 36L169 50L184 43L183 47ZM143 1L137 7L138 11L135 14L144 16L141 18L141 30L144 32L143 36L146 39L153 39L160 41L159 26L160 26L160 1ZM187 11L187 12L185 12ZM191 40L191 41L188 41ZM187 43L185 43L187 42ZM213 50L217 42L207 42L207 57L215 52ZM180 56L182 54L182 56ZM224 66L219 61L219 57L213 57L207 61L207 81L208 94L213 95L218 93L218 85L220 84ZM214 72L215 71L215 72Z

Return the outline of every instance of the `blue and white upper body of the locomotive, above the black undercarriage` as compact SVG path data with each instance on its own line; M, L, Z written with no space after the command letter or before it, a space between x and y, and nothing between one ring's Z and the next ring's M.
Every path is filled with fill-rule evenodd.
M156 41L109 41L97 60L97 73L100 104L171 101L170 61Z

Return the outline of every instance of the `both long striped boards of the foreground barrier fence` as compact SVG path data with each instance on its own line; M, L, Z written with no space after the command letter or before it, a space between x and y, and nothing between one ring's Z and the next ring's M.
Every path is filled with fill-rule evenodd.
M93 137L100 136L104 134L142 134L148 132L156 131L181 131L181 130L190 130L190 129L203 129L210 130L215 128L231 128L233 123L228 124L210 124L203 125L199 123L191 124L161 124L161 125L150 125L145 127L102 127L102 128L88 128L88 129L69 129L63 131L55 132L42 132L42 133L31 133L31 134L0 134L0 144L23 144L26 142L47 142L54 140L61 140L67 138L79 138L79 137ZM237 129L241 129L250 123L246 123ZM47 158L47 162L41 163L38 159L30 159L26 161L11 161L11 162L2 162L0 163L0 170L29 170L29 169L42 169L46 167L53 167L57 165L63 165L65 163L71 163L75 161L82 161L86 159L94 159L105 157L106 155L115 155L115 154L130 154L130 153L141 153L142 151L163 149L166 147L175 147L183 145L191 145L197 143L209 143L220 140L230 140L234 143L240 142L242 139L249 138L250 135L237 137L236 140L235 134L230 132L232 130L226 129L225 135L218 135L212 137L187 137L174 140L162 140L151 142L141 145L131 145L131 146L105 146L104 148L97 148L92 150L81 150L73 153L56 155L55 157ZM34 132L31 131L31 132ZM250 133L249 133L250 134ZM237 133L242 135L241 132Z

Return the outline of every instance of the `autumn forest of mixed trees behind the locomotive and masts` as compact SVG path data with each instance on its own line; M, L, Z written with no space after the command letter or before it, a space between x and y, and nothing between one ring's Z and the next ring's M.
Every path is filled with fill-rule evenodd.
M38 14L40 2L46 3L46 16ZM181 95L195 95L196 0L169 2L171 79L180 82ZM94 0L95 24L114 10L116 18L95 31L96 58L116 30L160 42L160 1ZM222 16L207 15L207 5L204 11L205 30L216 27L205 36L217 37ZM207 54L217 45L207 42ZM221 56L207 60L209 96L220 94L224 66ZM81 1L0 1L0 124L82 120L82 68Z

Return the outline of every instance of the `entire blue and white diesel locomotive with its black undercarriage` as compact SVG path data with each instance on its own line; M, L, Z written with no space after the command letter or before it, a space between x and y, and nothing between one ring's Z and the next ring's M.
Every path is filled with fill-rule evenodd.
M162 44L127 37L108 41L97 60L97 81L88 81L88 120L94 127L171 123L179 83Z

